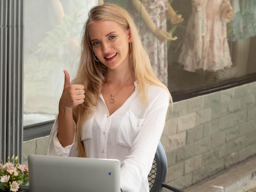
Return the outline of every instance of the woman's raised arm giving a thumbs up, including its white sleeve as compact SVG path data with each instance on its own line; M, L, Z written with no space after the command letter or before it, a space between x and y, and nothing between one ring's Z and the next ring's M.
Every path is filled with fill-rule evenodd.
M74 143L75 123L72 108L84 102L84 86L70 85L70 76L65 73L63 93L59 102L59 114L56 116L49 138L48 155L78 156Z

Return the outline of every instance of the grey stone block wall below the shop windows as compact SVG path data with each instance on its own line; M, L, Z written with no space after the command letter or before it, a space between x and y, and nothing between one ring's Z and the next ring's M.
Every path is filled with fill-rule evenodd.
M256 82L174 103L161 138L166 183L185 189L254 156L255 138ZM25 141L23 163L28 154L47 154L48 142Z

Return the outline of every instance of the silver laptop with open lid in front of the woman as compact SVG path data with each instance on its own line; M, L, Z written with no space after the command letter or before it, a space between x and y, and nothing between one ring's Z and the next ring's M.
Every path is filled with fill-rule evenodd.
M28 156L29 192L120 192L120 161Z

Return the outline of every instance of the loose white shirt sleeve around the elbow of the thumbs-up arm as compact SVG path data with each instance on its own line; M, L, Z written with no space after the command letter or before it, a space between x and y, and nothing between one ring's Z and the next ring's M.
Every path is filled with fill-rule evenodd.
M76 124L74 123L74 127L76 130ZM52 130L50 132L49 137L49 147L47 155L54 156L78 156L78 152L76 150L75 144L75 136L73 139L73 143L71 145L67 145L63 147L58 140L58 116L56 116L54 124L52 126Z

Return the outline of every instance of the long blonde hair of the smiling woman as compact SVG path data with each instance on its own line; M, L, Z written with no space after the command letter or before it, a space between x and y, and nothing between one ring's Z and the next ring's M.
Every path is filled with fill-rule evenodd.
M73 80L73 83L85 86L85 102L73 109L74 121L77 125L76 142L80 157L86 156L85 147L81 142L82 124L94 114L102 85L107 77L106 67L102 63L94 60L94 52L89 36L90 25L94 21L102 20L114 21L126 31L130 29L132 38L129 54L130 71L137 81L137 90L141 102L143 103L143 101L147 99L145 90L147 83L158 85L168 91L168 88L157 78L153 71L148 54L141 44L137 27L128 11L116 4L110 3L93 7L89 12L88 20L83 27L81 58L76 78ZM170 102L172 103L171 94Z

